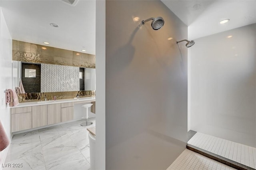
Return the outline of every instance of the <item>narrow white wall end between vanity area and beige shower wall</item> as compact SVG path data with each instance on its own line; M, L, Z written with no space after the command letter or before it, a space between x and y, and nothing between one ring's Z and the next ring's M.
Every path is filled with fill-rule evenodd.
M106 2L96 0L96 149L95 169L106 169Z

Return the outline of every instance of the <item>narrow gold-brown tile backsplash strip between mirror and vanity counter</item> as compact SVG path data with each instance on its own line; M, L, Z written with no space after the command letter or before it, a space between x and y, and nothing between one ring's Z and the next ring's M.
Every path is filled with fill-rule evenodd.
M47 92L47 93L25 93L18 94L19 102L36 102L40 100L44 100L46 97L47 100L53 100L53 96L56 96L56 100L59 99L68 99L74 98L76 96L82 97L91 97L95 96L95 90L89 91L74 91L74 92Z

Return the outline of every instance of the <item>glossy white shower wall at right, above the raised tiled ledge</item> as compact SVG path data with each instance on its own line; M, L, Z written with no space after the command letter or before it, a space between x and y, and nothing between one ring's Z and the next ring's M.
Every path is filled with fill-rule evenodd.
M256 147L256 24L195 42L191 129Z

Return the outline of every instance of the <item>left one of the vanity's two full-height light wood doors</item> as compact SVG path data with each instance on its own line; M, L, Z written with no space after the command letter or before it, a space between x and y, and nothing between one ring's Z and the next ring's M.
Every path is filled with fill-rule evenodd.
M32 106L32 128L47 125L47 105Z

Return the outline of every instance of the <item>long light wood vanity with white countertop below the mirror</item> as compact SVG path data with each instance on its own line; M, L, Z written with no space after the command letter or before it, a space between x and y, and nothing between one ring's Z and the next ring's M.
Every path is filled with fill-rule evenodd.
M11 108L11 132L54 125L74 120L75 103L94 102L92 111L95 113L95 98L79 100L63 99L52 102L27 102ZM74 120L75 121L75 120Z

